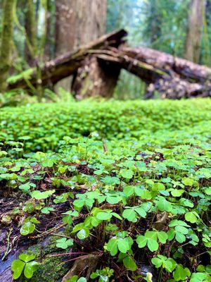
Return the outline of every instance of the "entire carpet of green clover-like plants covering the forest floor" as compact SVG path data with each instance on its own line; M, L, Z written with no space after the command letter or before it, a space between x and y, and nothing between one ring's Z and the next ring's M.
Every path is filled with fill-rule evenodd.
M15 280L211 281L210 99L5 107L0 128Z

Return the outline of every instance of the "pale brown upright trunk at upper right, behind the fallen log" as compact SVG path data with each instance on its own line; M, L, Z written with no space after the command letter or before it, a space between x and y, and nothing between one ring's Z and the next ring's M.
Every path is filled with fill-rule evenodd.
M206 0L191 0L184 57L194 63L198 63L200 59L200 42L203 33L205 2Z

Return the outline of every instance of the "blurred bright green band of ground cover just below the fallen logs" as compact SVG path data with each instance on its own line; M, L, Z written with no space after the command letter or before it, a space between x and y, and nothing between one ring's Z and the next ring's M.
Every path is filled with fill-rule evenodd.
M197 139L197 134L205 135L208 132L210 112L209 99L35 104L16 108L15 111L13 108L1 109L0 138L4 142L23 142L24 152L58 150L60 140L65 136L96 135L99 140L102 137L108 140L136 138L142 145L155 140L160 144L172 139L175 142L178 137L179 144L182 142L179 138L191 141ZM178 129L181 131L176 131ZM154 139L151 138L152 134L155 135ZM25 136L27 139L23 140ZM71 140L66 140L65 145L71 145ZM18 149L21 147L19 145ZM52 157L46 159L44 155L41 159L42 165L49 167L56 161ZM122 168L121 173L130 177L131 168L127 168L128 171L125 169Z

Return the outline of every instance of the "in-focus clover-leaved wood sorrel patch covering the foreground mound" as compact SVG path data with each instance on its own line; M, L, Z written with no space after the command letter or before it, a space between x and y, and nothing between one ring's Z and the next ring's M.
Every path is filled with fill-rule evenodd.
M98 257L91 278L99 281L113 277L116 281L151 281L152 278L159 282L210 281L208 114L205 111L197 117L186 109L187 112L181 112L181 121L191 127L183 124L179 128L176 111L167 116L165 110L156 120L156 114L163 109L159 102L158 105L158 109L153 106L148 109L150 114L154 113L151 128L157 128L156 132L149 133L145 125L140 130L146 121L142 112L129 123L127 118L131 119L131 115L122 121L112 111L107 116L106 128L98 119L91 125L94 115L91 112L86 116L86 123L82 118L75 120L72 114L71 128L82 125L80 133L71 131L58 144L64 132L68 134L67 117L61 117L64 121L61 128L52 129L51 133L56 135L44 137L46 130L40 130L45 121L32 114L30 123L33 118L39 120L41 128L38 132L32 130L30 139L25 137L26 147L7 141L1 143L2 190L15 203L11 207L4 204L8 209L1 216L4 229L13 228L9 246L17 233L21 240L33 244L39 238L56 236L53 255L63 257L63 262L70 261L70 267L80 257L85 259L90 254ZM138 102L128 106L129 111L143 111ZM121 111L126 111L124 107L120 106ZM55 113L54 106L49 111ZM68 109L64 111L69 113ZM46 121L48 117L46 112ZM172 130L163 118L165 121L169 118ZM113 128L110 124L114 124ZM98 131L98 135L79 136L87 128ZM21 135L24 130L20 130ZM18 134L15 129L12 131L14 136ZM102 140L102 136L113 137ZM47 151L49 147L45 146L51 144L59 152L18 155L14 150L20 146L29 152L30 144L32 151L40 148ZM42 259L48 257L43 256ZM36 261L41 259L36 257ZM26 263L20 262L24 267ZM38 267L41 271L43 266ZM15 266L12 270L14 278L24 271L22 268L17 274ZM32 273L34 277L36 272ZM85 276L82 273L76 279Z

